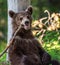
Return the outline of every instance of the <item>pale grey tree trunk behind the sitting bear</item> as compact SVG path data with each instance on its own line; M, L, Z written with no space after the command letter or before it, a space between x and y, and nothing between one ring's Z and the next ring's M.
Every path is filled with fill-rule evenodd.
M8 0L8 12L13 10L14 12L19 12L25 10L30 5L30 0ZM8 14L8 43L12 37L12 25L11 18ZM8 60L8 56L7 56Z

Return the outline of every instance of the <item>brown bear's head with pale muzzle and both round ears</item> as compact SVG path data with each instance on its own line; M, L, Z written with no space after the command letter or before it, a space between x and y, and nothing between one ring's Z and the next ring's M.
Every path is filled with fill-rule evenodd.
M21 29L30 30L32 23L32 7L29 6L25 11L15 13L9 11L9 16L12 18L12 27L15 32L17 28L21 25Z

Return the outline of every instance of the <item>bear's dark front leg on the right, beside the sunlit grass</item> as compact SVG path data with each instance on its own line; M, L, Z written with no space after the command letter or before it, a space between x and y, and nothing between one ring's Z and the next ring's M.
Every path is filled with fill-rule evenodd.
M51 56L44 50L44 48L40 45L40 43L37 40L33 40L33 42L38 48L38 52L39 52L42 64L49 65L51 62Z

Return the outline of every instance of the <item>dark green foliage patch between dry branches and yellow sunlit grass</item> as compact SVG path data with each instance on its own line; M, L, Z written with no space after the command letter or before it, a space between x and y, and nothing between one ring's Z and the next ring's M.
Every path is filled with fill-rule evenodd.
M45 42L53 42L53 41L58 40L59 35L60 35L60 30L58 32L57 31L47 31L45 33L45 37L43 38L43 40Z

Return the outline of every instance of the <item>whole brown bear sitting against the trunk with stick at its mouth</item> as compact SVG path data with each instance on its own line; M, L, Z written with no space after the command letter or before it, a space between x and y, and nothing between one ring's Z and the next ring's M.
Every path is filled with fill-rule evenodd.
M52 62L50 55L32 34L32 11L32 7L28 7L25 11L19 13L9 11L12 18L13 35L21 25L13 44L9 48L11 65L49 65ZM55 62L53 65L55 65Z

